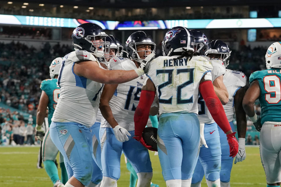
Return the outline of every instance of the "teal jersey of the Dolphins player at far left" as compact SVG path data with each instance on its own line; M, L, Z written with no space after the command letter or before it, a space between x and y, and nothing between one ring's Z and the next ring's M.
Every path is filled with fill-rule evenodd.
M57 101L59 100L59 86L57 84L57 79L45 79L41 82L40 85L41 90L45 91L49 98L48 108L48 122L49 127L52 122L53 113L57 106Z

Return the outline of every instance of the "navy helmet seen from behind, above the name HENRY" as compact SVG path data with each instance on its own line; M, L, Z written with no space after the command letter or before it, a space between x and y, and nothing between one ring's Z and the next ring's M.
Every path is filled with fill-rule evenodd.
M194 51L194 37L192 32L185 27L173 27L165 34L162 41L163 56L171 56L174 52L183 49Z

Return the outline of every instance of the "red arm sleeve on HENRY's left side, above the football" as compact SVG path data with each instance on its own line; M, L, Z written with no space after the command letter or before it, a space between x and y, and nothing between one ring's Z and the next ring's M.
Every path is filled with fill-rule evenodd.
M154 97L154 91L142 90L141 96L139 98L139 104L134 113L135 136L141 136L142 131L147 125L149 110L154 101Z

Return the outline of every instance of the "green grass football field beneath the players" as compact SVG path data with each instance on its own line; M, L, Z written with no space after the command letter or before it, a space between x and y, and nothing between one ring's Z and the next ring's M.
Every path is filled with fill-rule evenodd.
M45 169L37 169L39 147L0 147L0 186L5 187L52 187ZM150 152L153 167L152 182L165 187L158 156ZM60 169L59 169L60 176ZM130 172L126 168L124 155L121 157L120 187L129 187ZM233 164L231 187L265 187L265 173L260 162L258 147L246 147L246 160ZM205 179L202 187L207 187Z

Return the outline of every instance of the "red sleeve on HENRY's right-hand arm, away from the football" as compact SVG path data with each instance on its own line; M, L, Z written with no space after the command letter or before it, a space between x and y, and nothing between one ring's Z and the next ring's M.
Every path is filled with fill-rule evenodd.
M222 103L219 101L214 87L211 81L201 82L199 85L199 91L205 100L205 103L219 127L226 133L231 130L230 124L224 112Z

